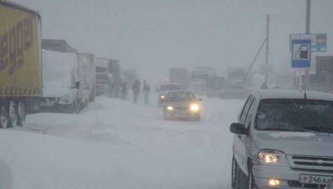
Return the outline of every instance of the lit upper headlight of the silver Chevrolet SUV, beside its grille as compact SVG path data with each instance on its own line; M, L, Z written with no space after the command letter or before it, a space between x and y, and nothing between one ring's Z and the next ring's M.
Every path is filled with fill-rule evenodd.
M289 164L287 156L276 149L262 149L258 153L258 160L268 164Z

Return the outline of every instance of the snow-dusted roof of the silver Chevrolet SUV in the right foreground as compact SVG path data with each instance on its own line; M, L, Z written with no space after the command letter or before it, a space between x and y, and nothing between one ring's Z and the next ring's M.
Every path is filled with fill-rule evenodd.
M260 99L304 99L304 90L289 89L263 89L253 94L260 96ZM306 99L333 101L333 94L319 91L306 91Z

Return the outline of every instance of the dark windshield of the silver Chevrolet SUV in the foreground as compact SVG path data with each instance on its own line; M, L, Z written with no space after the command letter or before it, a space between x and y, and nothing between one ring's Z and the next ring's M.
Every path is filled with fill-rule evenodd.
M260 101L255 128L333 133L333 102L307 99Z

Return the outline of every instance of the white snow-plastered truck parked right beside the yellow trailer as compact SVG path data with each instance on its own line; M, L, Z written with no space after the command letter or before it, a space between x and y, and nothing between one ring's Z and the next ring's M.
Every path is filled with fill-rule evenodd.
M42 51L43 96L42 111L60 111L78 114L90 99L90 62L84 54L57 51Z

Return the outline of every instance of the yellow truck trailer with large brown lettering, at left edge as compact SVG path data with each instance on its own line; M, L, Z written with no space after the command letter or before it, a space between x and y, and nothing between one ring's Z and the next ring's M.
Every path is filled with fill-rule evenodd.
M0 127L23 126L41 97L40 15L0 0Z

